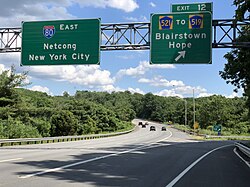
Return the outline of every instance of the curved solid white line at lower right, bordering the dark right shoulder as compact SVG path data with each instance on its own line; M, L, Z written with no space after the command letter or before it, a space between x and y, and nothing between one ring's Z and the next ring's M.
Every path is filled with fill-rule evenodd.
M174 180L172 180L166 187L172 187L175 185L175 183L177 183L189 170L192 169L192 167L194 167L198 162L200 162L203 158L205 158L207 155L209 155L210 153L217 151L219 149L225 148L225 147L229 147L232 146L233 144L230 145L224 145L221 147L217 147L209 152L207 152L206 154L202 155L200 158L198 158L195 162L193 162L191 165L189 165L185 170L183 170L177 177L174 178Z

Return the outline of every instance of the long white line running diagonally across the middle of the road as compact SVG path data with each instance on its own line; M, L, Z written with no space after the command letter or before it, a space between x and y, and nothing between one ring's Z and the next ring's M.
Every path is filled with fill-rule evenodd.
M164 139L159 140L157 142L164 141L164 140L170 138L172 136L172 132L171 131L169 131L169 132L170 132L170 135L167 138L164 138ZM96 161L96 160L101 160L101 159L112 157L112 156L117 156L117 155L121 155L121 154L125 154L125 153L131 153L131 152L142 150L142 149L145 149L145 148L148 149L148 148L151 148L152 144L154 144L154 143L150 143L149 145L139 146L139 147L129 149L129 150L126 150L126 151L122 151L122 152L118 152L118 153L113 153L113 154L109 154L109 155L105 155L105 156L91 158L91 159L88 159L88 160L83 160L81 162L68 164L68 165L65 165L65 166L62 166L62 167L58 167L58 168L48 169L48 170L40 171L40 172L37 172L37 173L29 174L29 175L19 176L19 178L26 179L26 178L30 178L30 177L34 177L34 176L38 176L38 175L43 175L45 173L60 171L62 169L66 169L66 168L69 168L69 167L72 167L72 166L77 166L77 165L85 164L85 163L88 163L88 162L93 162L93 161Z

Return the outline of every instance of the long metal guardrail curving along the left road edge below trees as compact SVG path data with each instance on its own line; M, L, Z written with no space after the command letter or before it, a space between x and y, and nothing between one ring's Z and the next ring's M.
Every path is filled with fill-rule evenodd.
M45 137L45 138L18 138L18 139L0 139L0 147L12 146L12 145L26 145L26 144L44 144L44 143L56 143L56 142L68 142L68 141L78 141L78 140L89 140L97 138L112 137L130 133L134 131L135 128L117 133L109 134L93 134L84 136L60 136L60 137Z

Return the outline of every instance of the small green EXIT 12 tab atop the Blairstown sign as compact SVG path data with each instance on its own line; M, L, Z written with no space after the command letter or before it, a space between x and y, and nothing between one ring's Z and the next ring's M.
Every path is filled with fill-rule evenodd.
M172 12L213 12L213 3L172 4Z

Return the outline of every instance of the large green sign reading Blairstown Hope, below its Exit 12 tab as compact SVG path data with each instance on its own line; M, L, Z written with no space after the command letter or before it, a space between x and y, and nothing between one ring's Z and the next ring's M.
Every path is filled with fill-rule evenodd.
M211 13L153 14L150 49L151 64L210 64Z

